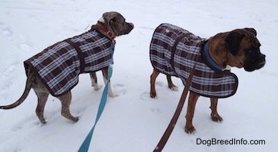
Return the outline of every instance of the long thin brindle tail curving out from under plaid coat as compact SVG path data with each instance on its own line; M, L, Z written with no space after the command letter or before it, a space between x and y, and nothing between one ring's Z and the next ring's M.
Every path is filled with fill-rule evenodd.
M28 96L28 94L31 90L31 84L32 84L31 81L33 81L33 79L34 79L33 72L30 72L30 74L27 76L25 90L24 90L22 96L13 104L0 106L0 109L15 108L18 105L20 105L21 103L23 103L23 101L26 99L26 97Z

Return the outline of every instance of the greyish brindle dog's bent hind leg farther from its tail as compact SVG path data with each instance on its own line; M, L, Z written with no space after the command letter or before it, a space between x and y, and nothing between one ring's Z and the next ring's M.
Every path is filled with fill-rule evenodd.
M70 119L74 122L78 121L79 118L73 117L72 114L70 113L70 103L72 101L72 93L69 91L63 94L62 96L58 96L58 99L60 99L62 103L61 114L63 115L63 117Z

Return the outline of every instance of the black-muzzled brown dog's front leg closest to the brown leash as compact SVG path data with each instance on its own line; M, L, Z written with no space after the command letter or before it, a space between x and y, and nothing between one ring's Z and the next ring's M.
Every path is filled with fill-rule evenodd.
M185 127L186 133L195 132L195 128L193 126L192 120L195 112L195 105L197 103L198 98L199 98L199 94L195 94L194 92L189 93L188 107L186 112L186 127Z

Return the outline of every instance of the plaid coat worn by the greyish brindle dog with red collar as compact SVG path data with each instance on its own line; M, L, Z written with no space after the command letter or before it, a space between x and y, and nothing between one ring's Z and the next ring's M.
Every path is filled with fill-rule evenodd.
M30 67L50 94L60 96L79 82L79 74L108 67L112 60L112 40L95 30L57 42L24 61L26 74Z

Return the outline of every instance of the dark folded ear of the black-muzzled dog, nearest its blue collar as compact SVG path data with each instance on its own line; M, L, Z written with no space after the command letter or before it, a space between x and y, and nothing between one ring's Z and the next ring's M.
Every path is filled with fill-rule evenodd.
M243 39L243 33L238 33L237 31L231 32L225 38L227 42L227 47L232 55L236 56L238 54L238 47L240 41Z

